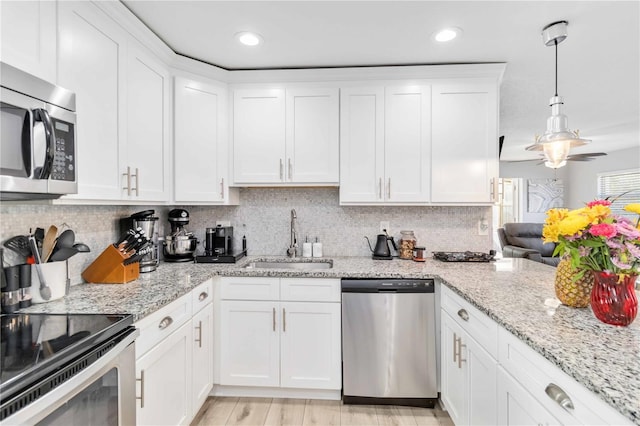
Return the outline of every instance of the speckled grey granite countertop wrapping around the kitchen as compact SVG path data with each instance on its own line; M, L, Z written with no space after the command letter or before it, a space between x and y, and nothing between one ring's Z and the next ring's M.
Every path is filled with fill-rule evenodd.
M72 286L65 298L24 312L131 313L139 320L213 276L316 278L440 278L441 282L516 335L602 400L640 424L640 319L629 327L598 321L590 308L554 308L555 268L526 259L491 263L424 263L331 258L331 269L300 271L237 264L162 263L127 284ZM286 258L268 259L286 261ZM315 259L314 259L315 260ZM322 259L326 261L326 259ZM300 261L310 261L300 259Z

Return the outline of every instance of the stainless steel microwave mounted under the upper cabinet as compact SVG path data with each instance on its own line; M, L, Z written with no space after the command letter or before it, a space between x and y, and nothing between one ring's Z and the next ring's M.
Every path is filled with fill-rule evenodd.
M0 200L78 192L76 95L0 62Z

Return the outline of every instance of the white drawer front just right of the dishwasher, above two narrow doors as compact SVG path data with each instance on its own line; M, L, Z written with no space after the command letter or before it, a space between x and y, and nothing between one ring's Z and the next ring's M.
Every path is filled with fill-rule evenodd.
M460 326L492 357L498 358L498 324L442 285L440 303Z

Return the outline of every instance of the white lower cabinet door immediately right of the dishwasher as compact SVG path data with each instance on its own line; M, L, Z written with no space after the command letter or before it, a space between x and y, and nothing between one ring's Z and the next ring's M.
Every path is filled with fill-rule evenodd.
M459 360L460 355L466 359L466 351L459 349L457 340L464 332L444 311L441 321L441 397L451 420L466 425L469 424L467 366Z

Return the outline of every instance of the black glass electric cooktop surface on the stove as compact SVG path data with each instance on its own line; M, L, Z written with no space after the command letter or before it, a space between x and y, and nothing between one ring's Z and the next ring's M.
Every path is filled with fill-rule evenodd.
M0 316L0 395L12 394L133 324L131 315Z

